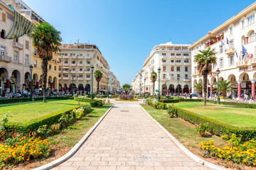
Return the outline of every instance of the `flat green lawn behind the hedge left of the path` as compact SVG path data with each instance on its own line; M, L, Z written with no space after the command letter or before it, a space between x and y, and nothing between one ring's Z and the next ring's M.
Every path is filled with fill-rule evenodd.
M80 102L85 103L85 102ZM0 118L4 113L11 111L9 122L24 123L30 119L39 118L57 111L65 111L68 108L78 106L78 101L73 100L48 100L47 103L42 101L9 103L0 105Z

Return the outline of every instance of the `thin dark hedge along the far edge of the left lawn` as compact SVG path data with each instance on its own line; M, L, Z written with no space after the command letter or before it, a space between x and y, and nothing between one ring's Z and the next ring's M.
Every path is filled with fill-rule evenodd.
M73 99L73 96L63 96L63 97L46 97L46 100L68 100ZM34 101L43 101L43 97L37 97L33 98ZM31 101L31 98L5 98L0 99L0 104L7 104L7 103L20 103L20 102L26 102Z

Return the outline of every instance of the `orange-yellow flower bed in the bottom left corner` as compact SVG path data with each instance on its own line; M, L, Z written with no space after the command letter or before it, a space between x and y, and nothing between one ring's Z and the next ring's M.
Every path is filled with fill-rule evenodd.
M41 140L41 137L14 137L0 145L0 169L31 159L48 157L49 154L48 140Z

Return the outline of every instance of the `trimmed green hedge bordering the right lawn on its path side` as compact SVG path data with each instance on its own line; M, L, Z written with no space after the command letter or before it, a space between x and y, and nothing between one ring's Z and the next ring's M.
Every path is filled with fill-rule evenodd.
M235 135L242 137L242 140L250 140L256 137L256 128L242 128L236 127L233 125L228 125L226 123L221 123L217 120L207 118L203 115L198 115L191 111L186 111L182 108L178 108L176 106L169 106L171 107L172 111L176 112L178 117L183 118L193 124L203 124L209 123L208 130L209 132L215 135L230 135L234 133Z

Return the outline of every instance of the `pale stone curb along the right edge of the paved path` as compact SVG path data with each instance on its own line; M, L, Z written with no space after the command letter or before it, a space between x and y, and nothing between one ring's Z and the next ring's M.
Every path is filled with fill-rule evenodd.
M142 110L146 113L146 115L149 115L149 113L147 113L146 110L145 110L141 105L139 105L139 106L140 106L140 107L142 108ZM223 167L221 167L221 166L218 166L218 165L212 164L212 163L210 163L210 162L207 162L207 161L201 159L200 157L197 157L195 154L193 154L193 153L190 152L188 149L186 149L186 147L184 147L184 146L181 144L181 142L178 142L178 140L176 140L176 138L175 138L173 135L171 135L170 132L168 132L162 125L160 125L156 120L154 120L154 118L152 118L151 115L149 115L149 118L151 118L151 120L153 120L154 123L156 123L156 125L159 125L159 128L161 128L161 130L163 130L163 131L166 133L166 135L168 135L168 136L171 138L171 140L173 140L174 143L175 143L176 145L178 145L178 147L179 147L185 154L188 155L188 157L191 157L191 159L193 159L193 160L194 160L195 162L197 162L198 164L201 164L201 165L203 165L203 166L206 166L206 167L208 167L208 168L210 168L210 169L228 170L228 169L225 169L225 168L223 168Z

